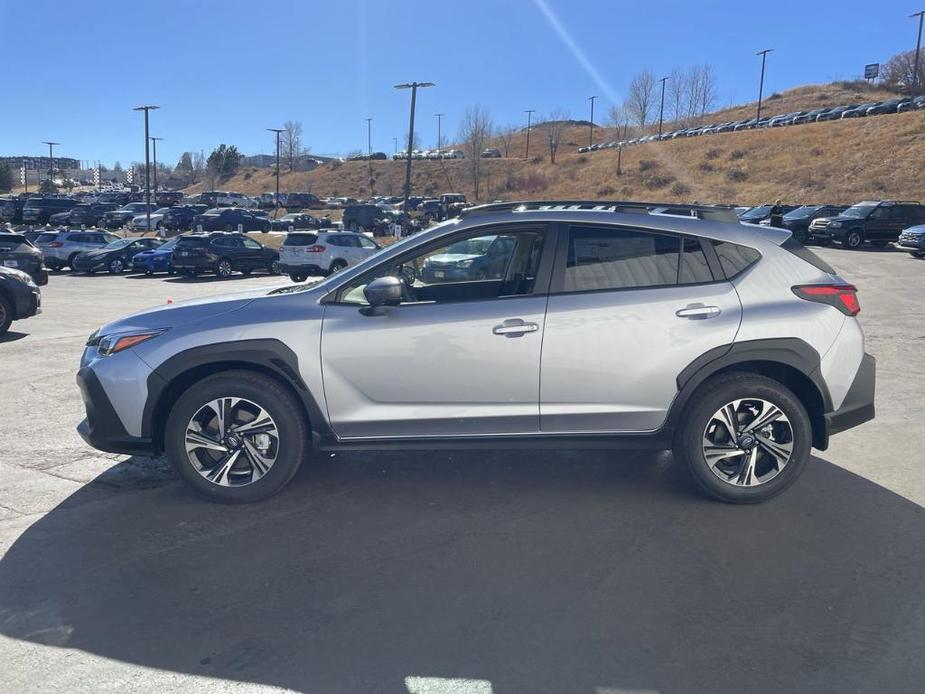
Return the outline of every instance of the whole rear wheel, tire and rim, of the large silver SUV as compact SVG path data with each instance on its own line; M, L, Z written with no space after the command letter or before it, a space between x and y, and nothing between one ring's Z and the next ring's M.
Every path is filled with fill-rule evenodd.
M809 459L806 409L784 385L730 373L691 399L675 443L701 488L735 504L765 501L793 484Z

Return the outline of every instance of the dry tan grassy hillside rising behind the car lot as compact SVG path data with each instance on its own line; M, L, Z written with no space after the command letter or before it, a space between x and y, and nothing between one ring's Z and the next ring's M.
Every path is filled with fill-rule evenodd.
M770 98L765 113L784 113L891 96L856 83L800 87ZM726 109L709 121L748 117L754 104ZM615 139L611 129L595 130L595 141ZM518 133L511 158L482 162L482 201L537 198L635 198L757 204L787 202L852 203L864 198L925 199L925 112L814 123L657 142L623 152L617 174L616 150L578 154L586 127L569 128L556 164L549 162L546 133L537 126L530 160L522 156ZM500 146L500 143L495 143ZM473 197L466 160L415 161L417 194L463 192ZM312 172L284 172L281 190L318 195L400 195L405 163L393 161L328 164ZM220 187L248 194L273 190L270 170L247 169ZM201 188L198 186L193 190Z

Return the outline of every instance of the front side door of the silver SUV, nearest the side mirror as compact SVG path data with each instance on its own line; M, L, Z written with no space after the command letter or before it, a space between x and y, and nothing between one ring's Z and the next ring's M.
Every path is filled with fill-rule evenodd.
M535 434L546 287L554 248L543 225L469 230L517 239L502 277L425 282L447 241L412 249L326 299L324 395L341 438ZM363 287L404 278L405 301L370 312ZM375 314L375 315L373 315Z

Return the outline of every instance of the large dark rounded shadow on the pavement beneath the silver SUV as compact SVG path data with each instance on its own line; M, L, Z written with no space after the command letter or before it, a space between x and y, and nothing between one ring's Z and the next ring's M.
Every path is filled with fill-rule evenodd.
M325 693L925 679L925 510L821 459L757 506L703 498L667 453L339 453L237 507L154 462L13 543L0 633Z

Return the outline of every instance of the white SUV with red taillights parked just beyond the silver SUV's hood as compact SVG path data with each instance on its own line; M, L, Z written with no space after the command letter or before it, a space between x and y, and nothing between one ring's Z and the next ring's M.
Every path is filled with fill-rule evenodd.
M293 282L329 275L366 260L380 250L365 234L350 231L294 231L279 249L279 271Z

